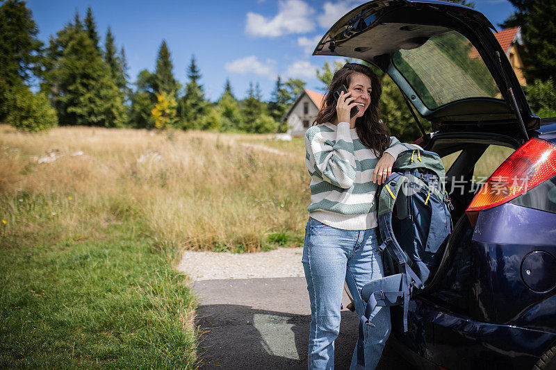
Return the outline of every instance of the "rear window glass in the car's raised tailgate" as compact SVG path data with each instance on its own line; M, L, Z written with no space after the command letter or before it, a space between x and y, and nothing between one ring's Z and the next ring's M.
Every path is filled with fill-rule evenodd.
M400 49L392 60L430 110L461 99L502 96L477 50L456 31L434 35L414 49Z

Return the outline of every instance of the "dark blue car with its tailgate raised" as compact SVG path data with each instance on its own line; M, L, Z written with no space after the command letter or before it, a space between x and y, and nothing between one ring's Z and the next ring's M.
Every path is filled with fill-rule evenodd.
M389 74L445 162L452 233L407 333L391 309L389 346L420 369L556 369L556 118L531 111L493 30L457 3L377 0L313 52Z

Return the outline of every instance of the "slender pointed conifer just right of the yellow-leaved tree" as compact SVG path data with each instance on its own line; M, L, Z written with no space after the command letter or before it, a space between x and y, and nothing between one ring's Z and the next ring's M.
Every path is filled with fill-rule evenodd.
M203 86L198 83L201 73L195 63L195 56L191 56L187 76L189 82L186 85L186 93L181 100L180 108L184 128L207 128L203 121L206 114L206 101L204 99Z

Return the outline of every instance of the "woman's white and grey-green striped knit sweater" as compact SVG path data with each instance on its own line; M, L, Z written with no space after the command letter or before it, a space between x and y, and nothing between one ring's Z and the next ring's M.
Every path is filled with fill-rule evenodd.
M390 137L393 158L414 144ZM309 215L323 224L344 230L377 226L373 169L379 158L364 146L350 124L340 122L312 126L305 134L305 163L311 175Z

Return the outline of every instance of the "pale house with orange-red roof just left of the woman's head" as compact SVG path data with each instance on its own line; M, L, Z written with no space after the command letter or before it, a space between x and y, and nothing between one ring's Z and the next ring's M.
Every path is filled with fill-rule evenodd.
M304 89L282 117L282 124L288 125L288 133L292 136L303 136L311 127L317 113L325 102L325 96L309 89Z

